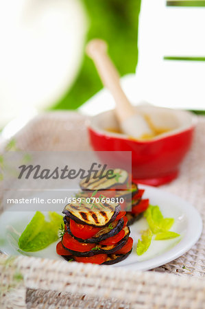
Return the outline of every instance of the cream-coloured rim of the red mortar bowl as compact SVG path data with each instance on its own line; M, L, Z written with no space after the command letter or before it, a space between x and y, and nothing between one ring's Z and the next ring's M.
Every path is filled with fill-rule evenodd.
M102 130L101 128L98 128L94 123L93 120L95 120L97 117L99 117L100 115L106 115L108 113L114 113L114 109L109 109L108 111L104 111L101 112L97 115L91 116L88 118L87 121L87 126L88 129L93 130L95 133L97 133L98 135L104 135L106 137L111 137L114 139L125 139L125 140L129 140L129 141L133 141L136 143L141 143L141 144L149 144L149 143L153 143L154 141L158 141L161 139L166 139L168 137L173 137L174 135L179 135L180 133L184 133L188 130L193 130L197 124L197 115L195 115L194 113L192 113L191 111L186 111L186 110L181 110L181 109L173 109L173 108L165 108L165 107L160 107L160 106L152 106L152 105L137 105L134 106L134 108L150 108L150 109L156 109L156 110L164 110L164 111L170 111L171 113L184 113L186 115L189 115L191 117L191 124L189 125L185 125L185 126L181 126L179 128L176 128L174 130L170 130L167 133L162 133L160 135L157 135L156 137L153 137L152 139L147 139L147 140L140 140L140 139L132 139L132 137L128 137L128 135L125 135L123 133L112 133L112 132L108 132L106 130Z

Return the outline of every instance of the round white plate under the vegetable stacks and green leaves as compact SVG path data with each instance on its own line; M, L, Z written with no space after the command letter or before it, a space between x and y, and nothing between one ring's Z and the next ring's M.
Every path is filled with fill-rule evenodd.
M134 239L132 253L126 260L113 266L145 271L171 262L191 249L202 233L202 218L192 205L178 196L154 187L145 185L139 187L145 189L143 198L149 198L151 205L158 205L163 216L175 219L171 231L180 233L178 238L152 240L147 252L138 256L136 255L136 244L138 238L141 237L140 231L147 229L148 226L145 218L141 218L131 226L131 236ZM35 253L23 253L18 249L18 236L16 239L12 237L16 234L11 231L14 229L20 234L33 216L34 212L32 211L5 211L0 216L0 250L8 255L25 254L41 258L62 259L56 254L57 242Z

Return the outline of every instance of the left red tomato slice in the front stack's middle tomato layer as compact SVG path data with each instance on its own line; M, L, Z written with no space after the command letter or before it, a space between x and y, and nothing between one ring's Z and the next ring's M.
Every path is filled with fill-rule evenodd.
M62 244L67 249L79 252L91 251L91 249L96 246L96 244L84 244L84 242L78 242L75 238L69 235L69 233L64 233Z

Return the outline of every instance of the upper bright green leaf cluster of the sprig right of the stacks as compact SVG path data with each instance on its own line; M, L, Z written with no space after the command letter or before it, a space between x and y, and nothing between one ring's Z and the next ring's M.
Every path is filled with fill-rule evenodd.
M158 206L149 205L144 214L153 233L168 231L174 222L173 218L164 218Z

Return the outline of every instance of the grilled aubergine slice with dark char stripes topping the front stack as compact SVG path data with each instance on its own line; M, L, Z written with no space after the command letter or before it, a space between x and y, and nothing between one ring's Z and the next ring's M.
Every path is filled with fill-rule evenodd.
M71 203L64 208L62 213L80 224L106 227L115 220L121 207L117 203L95 203L94 211L91 209L92 205L86 202L82 202L81 205Z

